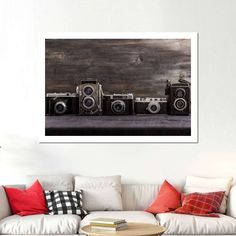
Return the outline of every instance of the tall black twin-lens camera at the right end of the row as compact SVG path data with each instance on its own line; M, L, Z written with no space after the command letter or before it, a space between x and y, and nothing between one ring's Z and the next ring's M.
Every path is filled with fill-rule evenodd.
M165 94L168 95L168 114L189 115L191 107L190 83L180 79L179 83L167 81Z

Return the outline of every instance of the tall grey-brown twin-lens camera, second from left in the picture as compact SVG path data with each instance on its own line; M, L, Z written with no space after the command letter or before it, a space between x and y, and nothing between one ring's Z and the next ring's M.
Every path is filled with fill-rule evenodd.
M82 80L76 88L79 115L102 115L102 85L97 80Z

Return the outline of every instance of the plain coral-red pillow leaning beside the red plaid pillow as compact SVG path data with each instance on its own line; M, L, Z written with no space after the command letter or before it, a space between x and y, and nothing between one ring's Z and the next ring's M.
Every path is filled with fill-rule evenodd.
M181 204L181 194L166 180L161 185L155 200L145 211L150 213L163 213L173 211Z

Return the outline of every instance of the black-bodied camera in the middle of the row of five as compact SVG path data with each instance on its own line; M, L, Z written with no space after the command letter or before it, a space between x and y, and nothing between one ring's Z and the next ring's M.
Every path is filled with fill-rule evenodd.
M104 115L132 115L134 113L134 95L111 94L103 96Z

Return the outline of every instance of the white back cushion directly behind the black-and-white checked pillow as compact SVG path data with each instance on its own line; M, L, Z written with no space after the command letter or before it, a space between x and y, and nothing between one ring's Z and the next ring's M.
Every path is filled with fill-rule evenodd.
M39 180L44 190L74 190L73 175L27 175L26 188L30 187L36 180Z

